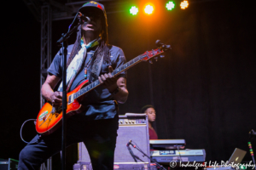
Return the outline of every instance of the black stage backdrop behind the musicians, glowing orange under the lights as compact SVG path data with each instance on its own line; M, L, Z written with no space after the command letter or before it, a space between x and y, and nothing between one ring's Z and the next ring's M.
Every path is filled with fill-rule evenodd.
M154 65L143 62L128 71L130 94L119 105L119 114L154 105L160 139L185 139L186 148L205 149L207 161L227 161L235 148L247 150L243 161L251 161L248 132L256 130L253 4L194 1L182 10L177 2L166 11L165 3L155 3L158 8L151 16L142 11L135 16L128 11L108 14L109 42L123 48L127 61L155 48L157 39L172 45ZM26 145L20 127L40 109L40 23L22 1L9 7L12 13L2 14L1 24L0 158L18 160ZM55 42L71 22L53 21L53 56L58 50ZM28 122L24 139L35 134ZM69 167L78 160L75 148L67 149ZM54 156L54 169L60 167L59 159L59 154Z

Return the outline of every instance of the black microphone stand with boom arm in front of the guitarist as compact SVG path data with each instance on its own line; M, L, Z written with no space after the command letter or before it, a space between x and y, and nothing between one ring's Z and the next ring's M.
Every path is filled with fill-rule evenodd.
M78 26L74 26L71 31L68 31L65 35L62 34L57 43L62 46L62 139L61 139L61 170L65 170L66 167L66 122L67 122L67 39L70 35L77 31L77 28L82 24L82 20L79 19Z

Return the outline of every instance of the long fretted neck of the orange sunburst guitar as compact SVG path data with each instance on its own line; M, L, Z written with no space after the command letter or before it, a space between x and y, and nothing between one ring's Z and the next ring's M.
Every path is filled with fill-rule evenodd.
M149 58L152 58L152 57L154 57L156 55L159 55L159 54L162 54L162 53L164 53L164 51L162 51L160 49L156 49L155 52L154 52L154 50L152 52L150 52L150 53L146 52L145 54L139 55L136 58L131 59L130 61L128 61L124 65L120 65L111 74L112 74L113 77L116 77L121 72L130 69L132 66L137 65L141 61L148 60ZM95 82L91 82L86 87L81 88L77 93L74 93L73 94L73 99L78 99L80 96L89 93L91 90L97 88L100 85L101 85L101 83L99 82L99 80L96 80Z

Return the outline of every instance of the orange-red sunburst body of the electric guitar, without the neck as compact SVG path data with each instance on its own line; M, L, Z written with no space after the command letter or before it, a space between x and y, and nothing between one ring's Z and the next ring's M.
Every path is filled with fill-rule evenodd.
M69 96L78 92L80 88L84 88L89 81L82 82L79 87L67 94ZM68 102L67 102L68 103ZM82 111L82 105L79 104L78 99L74 99L72 103L67 104L67 118ZM62 124L62 109L55 108L49 103L46 103L38 113L36 130L41 134L53 133Z

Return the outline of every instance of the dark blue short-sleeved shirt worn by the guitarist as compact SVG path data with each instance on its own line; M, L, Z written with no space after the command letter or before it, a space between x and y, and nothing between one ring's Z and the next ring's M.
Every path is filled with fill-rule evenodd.
M72 51L73 45L67 47L67 59ZM113 45L109 45L110 52L110 64L103 62L101 74L108 73L108 66L111 65L113 69L118 68L120 65L125 64L125 54L121 48ZM84 79L84 65L88 63L89 59L93 57L96 48L89 48L87 50L85 62L78 72L77 76L73 80L70 91L78 87L79 84L85 81ZM66 61L67 62L67 61ZM53 74L56 77L62 77L62 56L60 53L55 55L51 65L48 69L49 74ZM90 71L87 73L87 79L90 77ZM118 77L126 77L126 71L119 74ZM97 87L96 89L89 92L89 94L84 95L81 104L84 106L84 111L80 113L85 115L87 120L97 120L97 119L108 119L113 118L118 114L117 102L114 101L113 95L108 92L107 88L103 86Z

